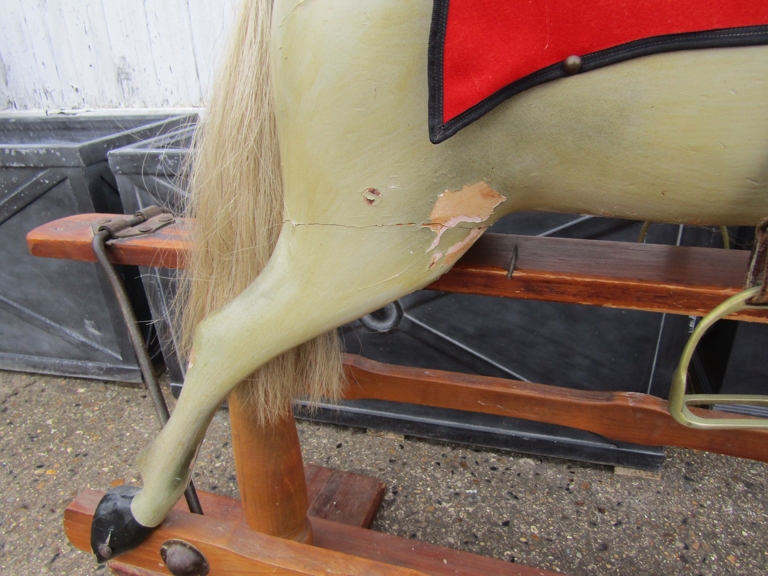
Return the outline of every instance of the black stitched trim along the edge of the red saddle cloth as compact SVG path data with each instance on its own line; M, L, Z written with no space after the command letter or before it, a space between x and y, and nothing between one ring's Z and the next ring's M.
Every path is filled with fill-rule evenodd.
M508 98L539 84L569 75L563 63L552 64L508 84L458 116L443 123L443 53L449 1L434 0L432 27L429 33L429 139L433 144L447 140ZM768 25L654 36L581 55L579 73L617 64L631 58L662 52L759 46L762 44L768 44Z

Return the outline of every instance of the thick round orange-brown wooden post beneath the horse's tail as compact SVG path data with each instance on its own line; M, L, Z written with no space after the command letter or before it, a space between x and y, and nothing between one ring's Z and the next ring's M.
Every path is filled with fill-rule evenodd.
M312 544L307 483L293 415L274 425L259 426L232 394L229 417L248 526L270 536Z

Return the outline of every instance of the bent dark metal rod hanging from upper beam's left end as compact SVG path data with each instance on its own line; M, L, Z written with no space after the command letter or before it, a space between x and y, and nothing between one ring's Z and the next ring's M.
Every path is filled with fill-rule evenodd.
M143 221L143 220L142 220ZM140 222L137 222L140 223ZM170 418L168 412L168 405L165 403L165 397L160 390L160 384L155 376L155 370L152 366L152 360L149 357L149 351L147 345L144 342L144 338L141 336L139 330L139 323L136 319L136 315L133 312L133 307L128 299L128 294L125 292L123 282L117 274L114 265L107 256L106 243L112 237L112 233L109 230L102 230L93 237L93 252L96 254L96 259L101 265L104 274L109 280L110 286L115 293L117 303L120 306L120 312L125 320L126 327L128 328L128 336L131 339L133 350L136 353L136 359L139 361L139 368L141 369L141 375L144 378L144 383L147 385L147 390L152 398L152 403L155 406L155 413L157 419L160 421L160 426L165 426L166 422ZM195 486L192 480L189 481L186 490L184 491L184 497L187 500L189 511L193 514L202 514L203 508L200 506L200 500L197 497Z

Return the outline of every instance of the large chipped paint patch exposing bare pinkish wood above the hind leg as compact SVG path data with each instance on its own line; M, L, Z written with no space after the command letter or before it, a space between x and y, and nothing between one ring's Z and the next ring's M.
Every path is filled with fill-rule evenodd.
M437 234L428 252L437 248L446 230L455 228L462 222L485 222L496 206L505 200L504 196L485 182L469 184L455 192L446 190L440 194L429 215L429 223L423 225ZM446 257L455 246L446 252Z

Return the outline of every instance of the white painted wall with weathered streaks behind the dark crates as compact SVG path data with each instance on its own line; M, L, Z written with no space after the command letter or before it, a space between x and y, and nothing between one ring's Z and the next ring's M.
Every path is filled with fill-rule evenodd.
M0 0L0 111L205 102L237 0Z

